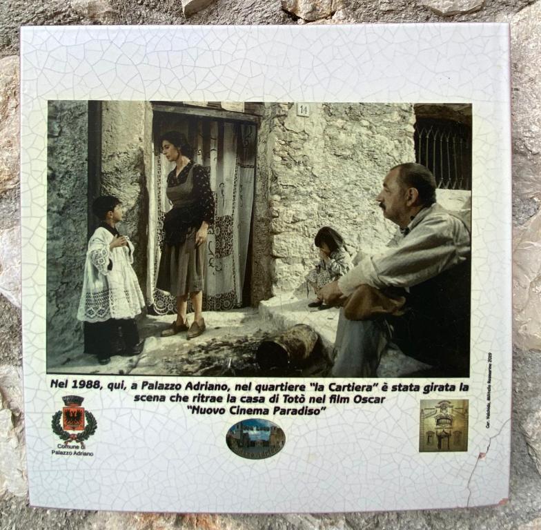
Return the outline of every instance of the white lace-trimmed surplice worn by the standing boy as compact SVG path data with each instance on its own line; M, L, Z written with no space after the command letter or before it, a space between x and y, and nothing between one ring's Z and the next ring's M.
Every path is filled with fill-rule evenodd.
M145 304L131 266L132 243L128 239L128 246L117 246L111 251L112 239L112 233L102 227L90 237L77 320L104 322L110 318L133 318Z

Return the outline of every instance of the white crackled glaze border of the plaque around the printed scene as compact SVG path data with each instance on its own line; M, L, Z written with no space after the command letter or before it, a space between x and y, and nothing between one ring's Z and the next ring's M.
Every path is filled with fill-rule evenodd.
M243 484L246 480L244 477L250 475L250 465L248 462L230 460L223 454L222 431L227 430L236 419L235 413L231 417L226 413L226 410L232 409L224 407L223 412L219 413L222 410L220 405L211 406L204 408L206 412L201 415L199 405L194 405L190 411L190 406L173 404L177 396L175 400L166 400L165 395L157 395L161 402L159 407L151 406L145 404L148 402L147 386L138 387L137 383L130 386L132 380L125 378L110 385L108 380L102 379L102 386L97 391L85 393L86 410L99 418L99 429L92 433L87 452L83 454L86 459L66 459L61 452L51 456L47 450L50 421L43 424L43 415L51 407L55 412L55 407L61 406L60 397L65 392L63 389L66 389L63 377L55 376L49 383L42 376L44 355L41 333L45 320L41 294L46 271L41 264L46 233L44 219L35 215L35 208L43 208L45 199L43 177L47 160L42 119L44 101L69 99L70 95L76 93L83 100L97 97L186 100L197 95L197 99L202 101L242 100L246 97L298 101L308 96L308 99L316 101L355 101L363 97L384 102L389 99L427 99L434 97L437 91L446 100L469 97L475 102L477 120L473 125L473 134L482 135L484 144L476 153L473 173L481 175L481 170L495 170L496 166L504 167L509 161L509 151L500 143L500 137L495 132L498 127L509 126L506 115L508 107L505 104L507 95L502 90L505 85L501 82L500 70L491 68L493 61L500 61L502 68L505 66L506 30L503 26L479 28L480 38L473 41L468 38L469 31L470 28L462 30L458 26L450 31L435 26L420 26L413 33L407 28L397 30L384 26L370 30L317 27L314 30L306 28L302 32L288 28L261 28L257 32L250 32L228 27L186 28L182 32L175 28L160 28L146 32L141 28L126 30L117 27L107 31L93 28L86 33L71 28L43 28L23 33L26 39L26 55L21 72L24 146L21 190L25 228L22 234L22 262L26 286L26 321L23 328L27 333L26 384L28 389L35 392L35 396L27 393L26 399L26 421L32 433L28 455L34 502L53 507L63 505L61 498L68 493L70 486L58 484L52 488L46 487L46 484L55 482L59 473L73 476L73 473L87 471L95 459L101 462L101 476L87 473L88 478L79 482L78 493L70 496L70 503L74 507L159 511L170 509L174 502L175 506L186 511L195 510L201 505L210 511L347 511L465 506L482 503L483 499L497 501L505 495L504 483L490 477L495 472L500 477L502 474L500 464L495 464L506 454L509 397L498 391L497 386L493 389L490 431L484 425L482 402L474 400L475 396L484 393L488 377L484 352L493 351L498 357L498 362L492 367L493 380L506 388L505 382L509 379L509 357L505 357L502 351L502 346L509 341L509 330L501 326L498 307L491 304L499 293L493 291L492 284L485 286L485 279L479 273L482 270L490 271L494 282L504 281L504 268L500 268L499 263L495 267L495 264L500 248L506 246L509 227L506 227L504 219L496 217L496 213L509 210L509 204L504 199L487 201L484 198L485 194L501 197L498 181L486 178L482 179L484 193L478 195L473 212L476 266L473 268L472 330L476 347L471 358L469 393L466 394L471 403L470 451L449 455L449 475L453 479L438 480L439 468L433 467L429 460L419 458L416 440L420 409L417 393L421 390L420 387L414 390L413 383L408 393L388 397L384 406L358 409L352 403L344 402L340 406L317 406L311 409L316 411L313 418L302 418L301 421L291 418L292 413L288 412L295 411L295 408L272 406L273 414L279 414L272 419L276 419L286 432L288 443L279 453L279 458L261 462L260 469L266 475L265 480L252 478L250 490L244 492L230 487L231 477L235 477L235 484ZM322 41L320 36L323 35L334 39L332 46ZM178 39L185 42L184 48L173 53L162 50L164 45L168 46L167 43ZM402 39L415 49L404 53L400 45ZM488 48L485 39L492 43ZM431 41L429 48L424 46L426 40ZM67 46L59 47L59 41L67 43ZM366 46L371 53L367 53ZM446 63L445 72L449 79L444 83L436 72L437 85L434 86L430 81L434 75L431 68L440 63L434 62L433 54L435 50L444 50L449 46L455 50L449 54ZM218 54L215 48L219 48ZM287 63L278 59L280 55L269 53L275 48L288 50ZM484 53L473 53L476 48L482 48ZM342 54L340 61L337 52ZM364 55L359 56L363 52ZM379 54L378 63L370 61L373 53ZM314 59L311 68L291 68L294 64L301 64L299 60L306 54ZM468 70L468 75L463 70L464 55L479 62L476 68ZM127 57L130 58L128 62ZM329 70L331 57L333 68ZM373 82L370 84L364 84L362 80L364 63L346 72L346 66L359 64L358 57L365 57L368 61L366 64L371 64L373 68ZM240 71L235 66L237 59L244 61ZM76 61L73 68L66 68L72 61ZM166 68L161 67L165 65ZM420 76L429 76L423 85L416 81L403 86L388 84L390 72L394 72L394 77L406 79L406 72L411 72L412 68L419 69ZM173 72L175 75L181 74L182 84L170 82ZM476 82L480 72L491 79L491 84L487 86L486 83ZM299 83L299 75L304 80L303 84ZM134 83L133 79L141 79L141 82ZM42 99L33 97L37 90L43 95ZM462 96L457 96L457 91ZM74 103L73 112L84 114L79 106L79 102ZM49 106L49 111L57 115L58 111L51 109ZM409 123L408 119L405 121ZM295 119L290 119L287 126L293 130L298 128L298 124L295 124ZM64 133L63 130L49 131L49 135L55 138ZM482 177L477 178L481 182ZM499 279L500 276L502 279ZM29 326L30 322L32 326ZM500 344L493 344L491 334L498 326L502 331ZM69 384L69 378L66 381ZM379 384L374 384L374 387L379 388ZM232 382L224 385L227 394L233 391ZM388 387L382 384L384 386L386 389L382 391L386 392ZM425 391L439 399L445 396L442 392L444 390L437 387ZM48 393L51 397L47 397ZM266 399L270 397L266 395ZM50 402L51 399L54 403ZM284 402L280 404L287 404L287 399L283 397ZM359 410L363 413L359 413ZM213 417L218 413L224 418L217 420ZM55 418L57 416L53 418L52 426L58 430L60 427L55 426ZM88 425L92 424L92 418L87 418ZM374 430L373 425L380 425L381 428ZM117 438L121 436L119 428L131 433L129 444L118 443ZM387 433L395 428L398 429L397 435L389 437ZM184 435L178 437L174 433ZM345 440L348 440L346 445ZM68 444L59 449L74 448ZM480 461L479 453L490 456ZM191 455L190 458L187 455ZM133 463L136 463L135 471L129 471ZM182 476L190 476L190 482L181 482L181 475L177 472L179 469L182 469ZM333 487L322 490L319 475L327 476ZM389 481L389 476L397 480ZM150 485L157 477L161 480L159 492L148 495L148 489L137 487L141 480L146 480ZM150 479L151 482L148 482ZM209 480L212 481L212 490L209 489ZM101 487L98 487L100 481ZM104 484L108 484L106 488ZM173 500L179 490L183 491L183 495Z

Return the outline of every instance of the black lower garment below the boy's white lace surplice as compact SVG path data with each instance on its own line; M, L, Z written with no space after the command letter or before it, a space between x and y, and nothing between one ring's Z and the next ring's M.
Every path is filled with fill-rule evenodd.
M135 319L110 318L105 322L83 322L85 353L98 360L129 353L139 344L139 331Z

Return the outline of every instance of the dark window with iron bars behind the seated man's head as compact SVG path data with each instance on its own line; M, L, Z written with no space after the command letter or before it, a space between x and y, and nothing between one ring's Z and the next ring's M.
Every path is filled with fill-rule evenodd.
M433 173L438 188L471 190L471 127L451 119L418 118L415 159Z

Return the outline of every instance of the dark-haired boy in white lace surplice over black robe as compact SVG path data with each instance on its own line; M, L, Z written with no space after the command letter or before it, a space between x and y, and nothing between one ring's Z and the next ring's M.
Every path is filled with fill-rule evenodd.
M112 355L130 357L141 352L135 316L141 313L144 297L132 268L134 247L120 235L122 220L117 197L104 195L92 204L101 223L90 237L77 319L83 322L85 351L108 364ZM125 348L118 353L118 345Z

